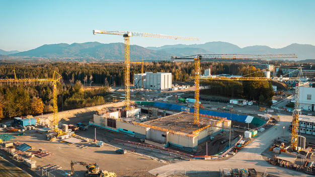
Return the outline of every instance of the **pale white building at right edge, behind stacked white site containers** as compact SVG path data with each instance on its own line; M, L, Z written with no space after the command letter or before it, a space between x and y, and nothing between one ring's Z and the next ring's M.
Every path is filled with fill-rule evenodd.
M299 105L301 110L314 111L315 87L300 86Z

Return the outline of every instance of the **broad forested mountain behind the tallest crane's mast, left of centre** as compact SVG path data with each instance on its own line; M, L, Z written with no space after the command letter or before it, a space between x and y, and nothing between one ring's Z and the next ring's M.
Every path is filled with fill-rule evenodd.
M111 61L123 61L125 57L123 43L102 44L99 42L73 44L45 44L38 48L11 54L10 56L47 57L47 58L97 58ZM137 45L130 45L131 59L165 60L172 54L166 51L155 51Z

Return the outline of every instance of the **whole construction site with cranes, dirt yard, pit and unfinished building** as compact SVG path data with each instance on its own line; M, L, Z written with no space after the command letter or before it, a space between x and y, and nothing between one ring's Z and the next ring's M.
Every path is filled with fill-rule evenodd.
M201 168L201 172L207 169L209 175L211 170L218 171L220 176L258 176L257 171L262 172L263 176L272 176L265 170L278 164L279 167L271 169L271 172L282 170L283 167L286 168L282 170L285 174L315 172L313 151L312 147L309 147L312 143L308 143L306 147L306 140L298 136L301 113L298 109L299 78L290 78L298 80L295 88L295 110L290 118L283 115L283 118L280 118L279 114L269 114L269 111L266 114L266 107L261 107L257 113L241 104L238 104L240 108L234 108L235 110L222 105L218 108L219 103L205 102L199 94L203 88L199 84L200 79L282 79L270 75L203 77L200 72L201 59L296 58L295 54L172 56L174 61L194 60L195 75L190 76L190 79L194 79L194 84L171 86L170 73L147 72L145 75L152 75L152 79L148 79L143 77L142 69L141 77L138 75L140 78L137 78L138 82L141 80L142 87L145 81L144 87L150 90L145 92L146 96L131 101L130 92L134 90L130 89L130 37L199 39L129 31L93 30L93 34L124 37L125 83L122 92L125 97L118 104L71 110L71 113L58 112L57 84L62 87L63 83L58 72L54 71L52 78L20 79L14 75L14 78L0 79L1 82L44 81L53 84L53 114L34 118L15 117L2 123L3 128L0 130L1 155L32 176L171 176L176 173L186 175L186 170L197 173L197 168ZM144 95L143 87L140 90L141 95ZM194 99L185 98L185 92L192 92ZM286 132L286 135L291 133L291 136L285 138L284 128L289 127L289 122L292 124L291 132ZM277 126L278 129L283 126L282 139L282 132L277 132ZM270 158L263 161L262 153L266 149L280 155L269 154ZM295 164L298 158L301 159L301 164ZM259 163L257 160L260 160ZM228 168L225 168L226 166ZM175 169L179 171L175 172Z

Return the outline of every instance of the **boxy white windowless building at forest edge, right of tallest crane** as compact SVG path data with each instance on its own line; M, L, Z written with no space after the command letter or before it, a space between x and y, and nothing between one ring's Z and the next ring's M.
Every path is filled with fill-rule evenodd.
M172 88L172 73L169 72L145 72L143 74L134 74L135 88L143 88L151 90L164 90Z

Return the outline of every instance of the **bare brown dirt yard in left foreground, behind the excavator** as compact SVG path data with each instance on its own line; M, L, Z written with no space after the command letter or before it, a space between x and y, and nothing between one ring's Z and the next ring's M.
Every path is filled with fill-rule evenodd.
M94 129L90 127L91 131L82 131L77 134L88 135L87 137L94 137ZM3 133L3 131L0 131ZM100 169L108 170L110 172L115 172L119 176L153 176L148 173L149 169L153 169L159 166L169 164L170 162L152 160L151 158L127 153L127 154L117 154L115 152L116 148L111 146L95 147L89 146L87 148L79 148L79 145L89 144L87 142L81 142L73 145L68 145L66 143L58 141L50 142L45 139L44 134L35 133L35 130L25 131L25 136L16 136L17 139L14 141L20 141L21 143L27 143L35 149L27 151L34 152L38 151L39 148L44 148L45 151L54 153L51 156L45 158L34 157L32 160L36 160L37 165L47 165L50 163L58 164L62 168L61 170L55 170L52 174L56 176L66 176L66 173L70 172L70 161L84 161L99 164ZM13 135L17 133L12 133ZM92 134L92 135L89 135ZM102 133L97 134L99 139L106 139L106 136L102 136ZM93 138L94 139L94 138ZM24 164L23 164L24 165ZM74 176L83 176L85 174L86 168L84 166L75 166ZM36 171L40 174L40 171Z

